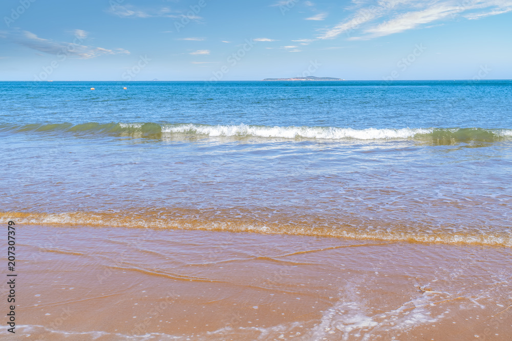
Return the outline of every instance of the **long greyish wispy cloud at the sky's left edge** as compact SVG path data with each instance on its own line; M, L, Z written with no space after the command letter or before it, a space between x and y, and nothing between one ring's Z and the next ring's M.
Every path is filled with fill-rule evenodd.
M83 45L83 40L87 38L88 33L83 30L74 30L73 32L75 38L71 42L40 38L32 32L21 30L0 32L0 37L20 46L51 55L65 54L70 57L90 59L101 55L130 54L130 51L119 48L111 50Z

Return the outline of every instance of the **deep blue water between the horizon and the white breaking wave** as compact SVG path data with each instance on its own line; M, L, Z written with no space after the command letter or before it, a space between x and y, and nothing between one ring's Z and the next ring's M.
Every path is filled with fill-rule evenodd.
M509 80L0 82L0 90L4 124L512 127Z

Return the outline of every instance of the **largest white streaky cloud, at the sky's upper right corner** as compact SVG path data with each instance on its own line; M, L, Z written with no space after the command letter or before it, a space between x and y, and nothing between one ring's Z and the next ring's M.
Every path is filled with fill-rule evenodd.
M462 16L480 19L512 11L512 0L379 0L376 5L353 0L354 14L318 36L330 39L357 32L350 39L370 39L424 27L438 20Z

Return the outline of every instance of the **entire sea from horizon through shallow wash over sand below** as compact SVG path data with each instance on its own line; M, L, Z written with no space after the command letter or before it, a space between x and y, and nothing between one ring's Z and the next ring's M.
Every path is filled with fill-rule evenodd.
M16 332L508 339L511 104L509 80L0 82Z

